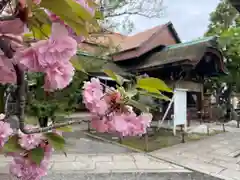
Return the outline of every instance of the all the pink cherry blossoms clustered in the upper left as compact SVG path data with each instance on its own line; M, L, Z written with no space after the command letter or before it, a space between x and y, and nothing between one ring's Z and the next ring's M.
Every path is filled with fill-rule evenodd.
M26 0L20 0L19 2L22 7L25 7ZM33 0L33 2L40 4L41 1ZM91 8L86 0L76 0L76 2L94 16L95 9ZM20 64L22 68L31 72L43 72L45 74L45 91L63 89L72 81L75 70L70 60L76 55L77 43L84 40L84 37L78 36L57 15L51 12L48 14L52 21L52 32L48 39L32 43L28 48L23 47L21 43L16 44L12 42L16 53L10 60L3 54L0 54L1 84L16 83L14 64ZM3 21L0 22L0 30L1 34L7 34L8 36L13 34L14 38L19 38L21 42L24 22L18 18L11 21Z

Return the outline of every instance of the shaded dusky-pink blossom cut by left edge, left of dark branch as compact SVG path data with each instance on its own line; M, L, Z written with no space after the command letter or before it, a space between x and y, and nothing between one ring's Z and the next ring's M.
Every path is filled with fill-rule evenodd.
M13 67L13 62L11 59L0 55L0 83L1 84L14 84L16 83L17 77L16 72Z

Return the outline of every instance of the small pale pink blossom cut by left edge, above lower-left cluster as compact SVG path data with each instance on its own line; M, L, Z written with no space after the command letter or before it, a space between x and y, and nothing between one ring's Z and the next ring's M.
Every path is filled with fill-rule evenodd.
M10 124L7 122L0 121L0 147L4 145L6 140L11 136L13 133Z

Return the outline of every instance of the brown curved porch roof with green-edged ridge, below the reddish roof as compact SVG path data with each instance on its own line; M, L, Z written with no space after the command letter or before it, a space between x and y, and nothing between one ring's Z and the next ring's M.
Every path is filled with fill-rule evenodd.
M162 51L152 54L144 63L141 63L132 69L149 69L160 68L167 64L192 64L195 66L207 51L216 53L221 59L221 71L226 72L223 65L222 54L216 48L216 37L206 37L186 43L174 44L166 46ZM131 69L130 68L130 69Z

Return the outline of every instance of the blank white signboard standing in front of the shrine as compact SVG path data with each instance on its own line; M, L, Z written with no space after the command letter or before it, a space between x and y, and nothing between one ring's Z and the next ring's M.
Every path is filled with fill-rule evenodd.
M176 126L184 125L186 130L187 124L187 90L175 89L174 90L174 134L176 134Z

